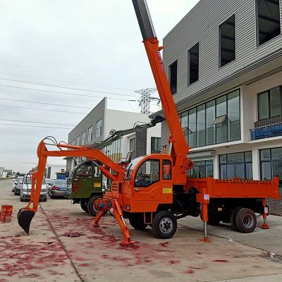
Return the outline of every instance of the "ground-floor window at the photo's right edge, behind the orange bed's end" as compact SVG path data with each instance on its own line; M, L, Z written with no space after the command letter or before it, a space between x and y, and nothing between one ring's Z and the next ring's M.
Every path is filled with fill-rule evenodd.
M262 180L271 180L274 176L279 178L282 185L282 147L262 149L260 155L260 177Z

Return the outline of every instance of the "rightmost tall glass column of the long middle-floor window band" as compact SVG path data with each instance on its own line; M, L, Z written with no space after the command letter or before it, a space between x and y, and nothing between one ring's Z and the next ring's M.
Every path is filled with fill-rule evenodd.
M240 139L240 94L228 94L228 141Z

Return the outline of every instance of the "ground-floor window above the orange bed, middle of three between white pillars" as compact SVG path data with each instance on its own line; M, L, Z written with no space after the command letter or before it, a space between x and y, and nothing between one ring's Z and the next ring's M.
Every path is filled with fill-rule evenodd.
M252 152L219 155L221 179L252 179Z

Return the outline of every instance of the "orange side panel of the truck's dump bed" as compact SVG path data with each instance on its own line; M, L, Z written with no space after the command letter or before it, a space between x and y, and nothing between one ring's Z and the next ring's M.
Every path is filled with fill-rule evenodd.
M274 180L226 180L214 178L188 178L186 190L196 188L200 193L206 190L211 198L220 197L272 197L279 200L278 178Z

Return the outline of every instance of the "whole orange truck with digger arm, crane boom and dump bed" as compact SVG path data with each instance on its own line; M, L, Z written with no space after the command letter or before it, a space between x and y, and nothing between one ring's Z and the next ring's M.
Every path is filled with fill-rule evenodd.
M133 0L133 6L170 130L168 154L151 154L137 157L128 164L116 164L98 149L56 144L59 151L48 151L42 141L37 149L39 164L32 178L32 197L27 207L18 213L20 226L29 232L30 222L37 211L47 157L70 156L97 161L102 173L112 179L111 190L94 202L99 213L93 226L99 227L99 220L111 209L123 232L123 245L134 243L124 219L129 219L130 225L138 230L151 226L157 238L167 239L176 233L177 219L201 216L204 242L209 242L207 223L217 225L223 221L231 223L237 231L250 233L257 225L257 213L263 216L262 228L269 228L266 223L268 207L265 199L279 199L278 178L261 181L193 179L187 176L188 169L193 166L188 157L190 147L185 140L164 71L160 54L162 47L159 47L146 1Z

